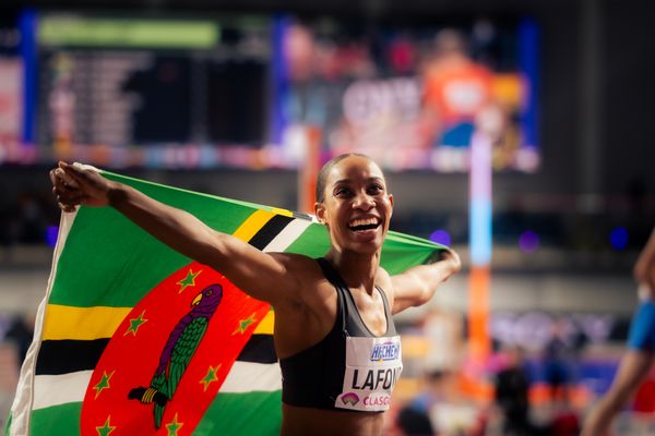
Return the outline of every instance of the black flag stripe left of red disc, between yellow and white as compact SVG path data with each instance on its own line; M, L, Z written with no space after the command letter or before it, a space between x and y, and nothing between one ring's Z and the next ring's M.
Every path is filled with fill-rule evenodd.
M60 375L93 371L109 343L109 338L94 340L45 340L36 361L36 375Z

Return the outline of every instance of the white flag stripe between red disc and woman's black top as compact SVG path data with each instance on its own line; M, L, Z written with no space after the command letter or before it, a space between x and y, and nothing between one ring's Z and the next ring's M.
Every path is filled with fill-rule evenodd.
M282 389L282 371L278 363L235 362L221 386L221 392L243 393Z

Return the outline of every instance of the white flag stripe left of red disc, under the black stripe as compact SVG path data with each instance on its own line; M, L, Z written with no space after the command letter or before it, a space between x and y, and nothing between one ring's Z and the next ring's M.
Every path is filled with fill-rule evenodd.
M34 410L82 402L93 371L34 377Z

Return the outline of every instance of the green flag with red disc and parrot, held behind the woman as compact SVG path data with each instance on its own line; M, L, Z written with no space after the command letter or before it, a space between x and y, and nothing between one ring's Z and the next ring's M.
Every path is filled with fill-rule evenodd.
M266 252L324 255L310 216L100 171ZM391 274L441 247L390 232ZM277 435L274 313L110 207L62 214L9 435ZM299 326L301 328L301 326Z

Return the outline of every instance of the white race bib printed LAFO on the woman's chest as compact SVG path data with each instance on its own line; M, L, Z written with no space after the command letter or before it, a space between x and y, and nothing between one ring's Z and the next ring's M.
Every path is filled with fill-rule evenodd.
M400 336L347 337L344 388L334 407L365 412L388 410L402 371Z

